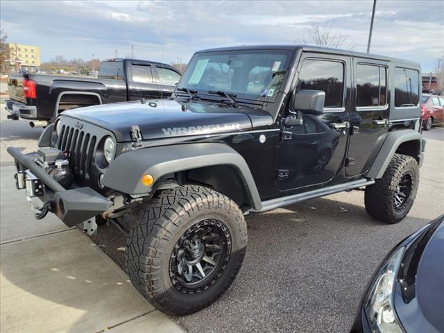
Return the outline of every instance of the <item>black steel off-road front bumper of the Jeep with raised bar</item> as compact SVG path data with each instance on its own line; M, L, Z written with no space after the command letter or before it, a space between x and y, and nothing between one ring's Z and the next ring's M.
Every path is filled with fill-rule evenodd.
M26 189L26 196L37 210L49 207L68 227L108 210L112 202L90 187L65 189L37 165L29 155L15 147L8 147L14 157L17 189ZM37 217L37 216L36 216Z

